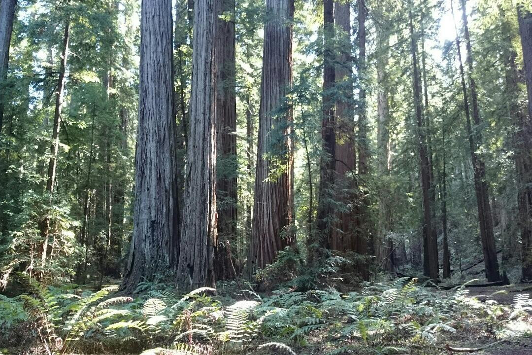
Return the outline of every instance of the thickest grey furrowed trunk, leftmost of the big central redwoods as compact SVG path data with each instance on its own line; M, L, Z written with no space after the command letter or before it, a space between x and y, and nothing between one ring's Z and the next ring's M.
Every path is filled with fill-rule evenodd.
M120 286L126 292L176 269L179 257L172 2L143 0L141 15L134 226Z

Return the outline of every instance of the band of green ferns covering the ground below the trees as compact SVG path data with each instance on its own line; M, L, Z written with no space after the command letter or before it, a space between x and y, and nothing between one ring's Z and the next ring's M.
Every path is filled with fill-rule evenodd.
M34 285L31 294L0 296L0 329L30 324L48 354L439 353L443 337L475 319L503 337L517 334L512 322L526 329L532 312L528 294L503 307L468 297L464 287L444 293L406 278L362 283L357 292L282 289L236 301L207 287L182 296L147 286L134 299L115 295L117 287Z

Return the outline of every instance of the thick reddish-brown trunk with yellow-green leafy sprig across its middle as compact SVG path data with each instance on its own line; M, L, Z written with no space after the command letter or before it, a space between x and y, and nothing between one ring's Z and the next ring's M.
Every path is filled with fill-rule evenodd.
M287 93L292 85L293 0L267 0L262 57L259 138L248 277L294 243L285 230L293 219L293 160ZM266 154L275 155L270 159ZM276 171L277 170L277 171Z

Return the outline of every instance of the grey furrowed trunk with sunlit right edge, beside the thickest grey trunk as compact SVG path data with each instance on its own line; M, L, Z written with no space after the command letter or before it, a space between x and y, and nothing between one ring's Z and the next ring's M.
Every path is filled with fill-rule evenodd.
M177 270L179 292L214 287L215 282L214 245L218 240L215 28L215 1L196 2L185 207Z

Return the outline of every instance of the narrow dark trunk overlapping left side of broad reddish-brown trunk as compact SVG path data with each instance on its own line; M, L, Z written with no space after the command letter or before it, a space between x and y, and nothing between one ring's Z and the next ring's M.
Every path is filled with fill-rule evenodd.
M331 200L334 198L336 169L336 117L335 117L335 57L333 41L334 29L334 2L323 0L323 120L321 126L321 139L323 154L320 160L320 185L318 190L318 215L317 231L314 250L309 255L309 262L324 254L329 249L331 239Z

